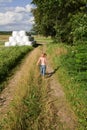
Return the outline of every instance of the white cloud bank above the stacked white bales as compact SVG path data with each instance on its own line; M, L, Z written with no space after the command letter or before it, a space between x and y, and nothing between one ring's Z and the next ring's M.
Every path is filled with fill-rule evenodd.
M0 12L0 30L2 26L6 30L17 29L29 29L34 24L34 17L31 14L31 5L25 7L17 6L5 8L3 12Z

